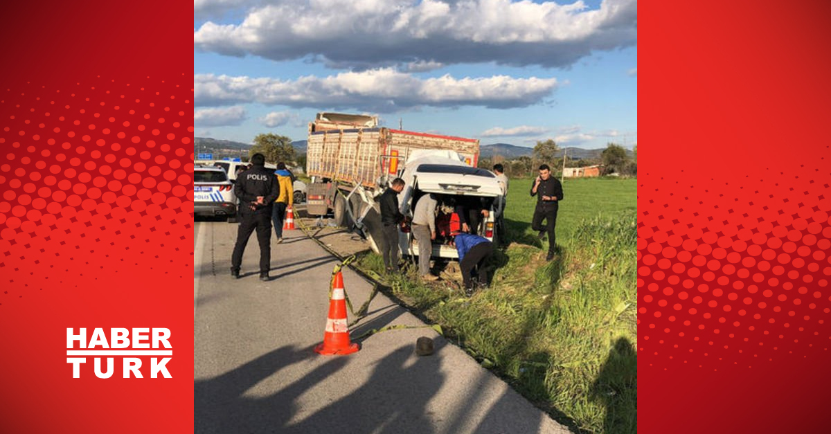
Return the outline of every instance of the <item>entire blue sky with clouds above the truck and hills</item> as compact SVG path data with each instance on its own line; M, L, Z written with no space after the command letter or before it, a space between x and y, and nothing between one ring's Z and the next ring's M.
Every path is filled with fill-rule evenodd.
M637 1L196 0L196 136L318 111L533 146L637 143Z

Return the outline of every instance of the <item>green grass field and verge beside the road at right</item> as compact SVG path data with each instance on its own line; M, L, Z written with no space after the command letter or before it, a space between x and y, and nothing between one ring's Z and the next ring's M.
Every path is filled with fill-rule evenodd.
M578 432L637 432L637 180L567 180L558 251L530 229L530 179L511 180L507 249L489 289L467 299L453 283L388 278L396 296L538 407ZM365 269L381 259L366 254Z

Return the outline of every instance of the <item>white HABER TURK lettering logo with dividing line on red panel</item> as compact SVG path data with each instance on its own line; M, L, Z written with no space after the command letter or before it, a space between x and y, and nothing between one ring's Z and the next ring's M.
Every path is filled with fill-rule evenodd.
M150 358L150 378L157 378L159 374L172 378L165 366L173 356L168 342L169 328L110 328L109 338L107 340L104 328L94 329L88 339L86 328L79 328L77 333L74 328L66 329L66 362L72 364L73 378L81 377L81 365L86 363L87 357L93 358L95 375L99 378L112 377L116 358L121 360L125 378L144 378L141 370L147 358ZM106 361L106 368L101 367L102 360ZM147 365L144 366L147 372Z

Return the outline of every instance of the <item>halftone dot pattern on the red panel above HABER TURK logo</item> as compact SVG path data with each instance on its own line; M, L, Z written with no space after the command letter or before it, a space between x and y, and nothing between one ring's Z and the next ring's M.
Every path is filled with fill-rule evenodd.
M120 274L188 279L189 73L0 89L2 309Z

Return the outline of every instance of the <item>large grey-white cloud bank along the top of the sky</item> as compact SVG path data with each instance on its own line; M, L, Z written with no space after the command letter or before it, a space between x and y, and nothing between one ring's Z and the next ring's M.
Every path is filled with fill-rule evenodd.
M598 9L582 0L271 0L250 7L242 22L194 30L194 49L204 52L359 70L420 62L565 67L635 44L637 0L603 0Z

